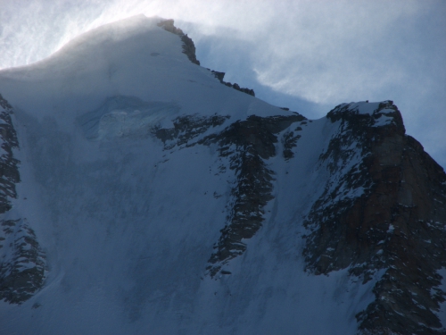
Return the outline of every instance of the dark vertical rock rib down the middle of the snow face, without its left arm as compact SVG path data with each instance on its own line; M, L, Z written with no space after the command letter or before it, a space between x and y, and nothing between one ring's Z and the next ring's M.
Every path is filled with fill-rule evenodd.
M211 277L231 259L242 255L246 250L243 239L251 239L260 230L264 221L263 208L273 198L275 172L268 169L266 160L276 155L277 134L293 122L304 119L298 114L267 118L252 115L202 141L202 144L219 144L219 155L229 159L230 169L236 176L227 225L220 230L219 242L214 246L216 251L211 255L207 267Z

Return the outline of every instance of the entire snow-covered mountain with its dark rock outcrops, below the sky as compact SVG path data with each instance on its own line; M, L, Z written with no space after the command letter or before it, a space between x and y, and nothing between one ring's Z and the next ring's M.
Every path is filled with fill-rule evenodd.
M142 15L0 71L0 333L445 333L446 174L392 101L223 76Z

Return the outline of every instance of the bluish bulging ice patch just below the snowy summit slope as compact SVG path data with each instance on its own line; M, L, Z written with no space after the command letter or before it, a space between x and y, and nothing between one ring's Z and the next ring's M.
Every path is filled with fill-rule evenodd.
M155 126L169 126L171 116L180 107L175 103L145 102L134 96L113 96L94 112L78 118L89 139L145 136ZM165 124L166 123L166 124Z

